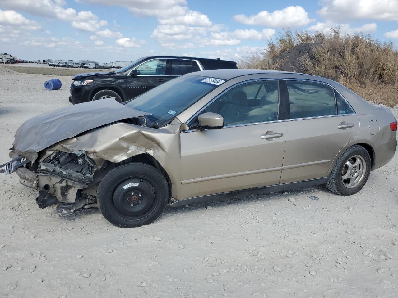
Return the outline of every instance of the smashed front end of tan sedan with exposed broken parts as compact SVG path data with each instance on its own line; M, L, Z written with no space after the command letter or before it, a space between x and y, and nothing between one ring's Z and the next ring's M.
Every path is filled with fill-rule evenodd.
M87 156L86 151L55 151L42 161L19 166L15 172L20 182L29 188L39 190L36 203L40 208L58 204L60 217L70 215L80 208L98 207L96 187L100 179L95 179L100 167ZM24 164L24 165L25 165ZM105 171L106 163L101 170Z

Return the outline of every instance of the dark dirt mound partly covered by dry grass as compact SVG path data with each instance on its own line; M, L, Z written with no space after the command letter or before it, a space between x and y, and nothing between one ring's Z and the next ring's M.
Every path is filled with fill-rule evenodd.
M306 73L306 70L300 63L302 57L308 55L311 60L314 59L313 48L319 43L301 43L290 50L281 53L274 58L272 62L284 72Z

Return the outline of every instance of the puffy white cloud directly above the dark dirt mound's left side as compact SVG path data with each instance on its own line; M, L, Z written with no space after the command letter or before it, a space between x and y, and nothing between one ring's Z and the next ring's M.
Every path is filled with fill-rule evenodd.
M283 10L275 10L271 13L263 10L250 17L238 14L234 15L234 20L246 25L263 25L280 28L296 28L312 22L312 20L308 18L308 13L301 6L288 6Z

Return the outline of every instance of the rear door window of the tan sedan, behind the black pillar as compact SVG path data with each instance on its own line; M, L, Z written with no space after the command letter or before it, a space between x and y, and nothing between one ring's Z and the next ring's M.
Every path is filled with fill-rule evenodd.
M290 118L336 115L336 101L332 87L307 81L287 80Z

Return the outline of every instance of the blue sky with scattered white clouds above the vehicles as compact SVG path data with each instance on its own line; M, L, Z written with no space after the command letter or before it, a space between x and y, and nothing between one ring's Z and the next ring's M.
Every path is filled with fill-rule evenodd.
M0 52L21 59L239 60L283 28L398 44L398 0L0 0Z

